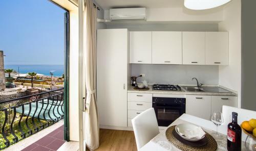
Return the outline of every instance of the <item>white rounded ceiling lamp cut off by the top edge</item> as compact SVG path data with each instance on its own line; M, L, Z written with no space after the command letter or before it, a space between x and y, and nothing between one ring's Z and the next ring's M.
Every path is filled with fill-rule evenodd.
M205 10L219 7L231 0L184 0L184 6L192 10Z

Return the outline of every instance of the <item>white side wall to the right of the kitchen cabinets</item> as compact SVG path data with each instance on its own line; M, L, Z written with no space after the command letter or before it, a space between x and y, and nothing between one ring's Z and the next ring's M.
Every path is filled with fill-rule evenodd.
M219 31L229 33L229 65L219 66L219 85L238 92L241 107L241 0L233 0L224 8L224 21Z

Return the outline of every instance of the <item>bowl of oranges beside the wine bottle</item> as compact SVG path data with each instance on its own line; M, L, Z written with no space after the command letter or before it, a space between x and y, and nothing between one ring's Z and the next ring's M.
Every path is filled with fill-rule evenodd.
M249 121L243 121L241 124L243 132L252 138L256 139L256 119L250 119Z

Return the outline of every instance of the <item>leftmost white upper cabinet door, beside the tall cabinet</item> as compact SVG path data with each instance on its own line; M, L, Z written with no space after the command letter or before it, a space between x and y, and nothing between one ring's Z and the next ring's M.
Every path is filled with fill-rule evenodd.
M130 32L130 63L152 64L152 32Z

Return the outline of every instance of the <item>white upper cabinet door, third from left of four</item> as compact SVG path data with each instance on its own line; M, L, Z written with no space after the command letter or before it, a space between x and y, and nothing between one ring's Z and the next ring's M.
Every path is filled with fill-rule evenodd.
M182 64L205 64L205 32L182 32Z

